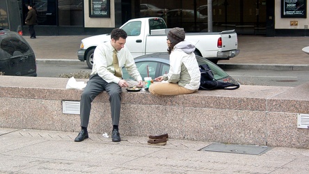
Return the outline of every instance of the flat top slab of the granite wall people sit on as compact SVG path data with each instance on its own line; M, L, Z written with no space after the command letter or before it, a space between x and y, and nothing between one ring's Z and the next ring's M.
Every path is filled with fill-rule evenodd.
M65 89L67 78L0 76L0 80L0 97L79 101L82 92L82 90ZM88 81L88 79L77 79L77 81ZM280 96L286 96L285 93L291 93L291 91L296 93L299 89L241 85L237 90L199 90L190 95L176 96L155 96L147 92L127 93L125 88L122 88L122 91L124 92L122 103L127 104L133 102L143 105L164 104L166 106L267 111L267 100L276 104ZM106 92L94 100L94 102L103 103L108 101L109 96ZM272 107L275 106L269 108Z

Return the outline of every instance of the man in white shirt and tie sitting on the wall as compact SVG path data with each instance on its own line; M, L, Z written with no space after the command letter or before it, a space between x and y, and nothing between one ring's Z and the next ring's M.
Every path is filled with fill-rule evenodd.
M129 49L125 47L126 38L127 33L124 30L113 29L111 31L111 41L97 45L95 48L93 70L83 93L81 93L81 132L74 139L75 142L88 139L87 127L91 102L104 90L109 93L109 102L111 103L111 120L113 123L111 139L113 142L121 141L118 130L121 104L120 94L122 87L129 87L127 81L122 79L121 68L125 66L130 76L138 81L137 86L143 86L142 77L136 68L133 56Z

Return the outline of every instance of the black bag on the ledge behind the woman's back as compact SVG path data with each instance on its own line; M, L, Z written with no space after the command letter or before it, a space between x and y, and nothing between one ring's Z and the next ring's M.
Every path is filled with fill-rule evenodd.
M200 88L199 90L214 90L214 89L228 89L233 90L239 88L239 84L232 84L225 81L217 81L214 79L214 73L209 68L209 65L200 65Z

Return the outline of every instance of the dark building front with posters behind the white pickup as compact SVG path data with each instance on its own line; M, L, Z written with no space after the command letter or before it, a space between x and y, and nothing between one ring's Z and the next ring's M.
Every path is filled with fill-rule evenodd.
M97 35L109 33L127 20L162 17L168 28L186 32L235 29L238 34L308 36L306 0L20 0L38 12L38 35ZM212 6L212 8L208 8ZM212 14L212 17L208 17ZM27 35L27 26L24 34Z

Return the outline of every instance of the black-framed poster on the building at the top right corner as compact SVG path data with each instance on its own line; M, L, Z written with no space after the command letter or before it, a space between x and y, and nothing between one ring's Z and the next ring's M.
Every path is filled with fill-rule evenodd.
M306 18L307 0L281 0L281 17Z

